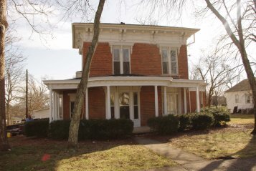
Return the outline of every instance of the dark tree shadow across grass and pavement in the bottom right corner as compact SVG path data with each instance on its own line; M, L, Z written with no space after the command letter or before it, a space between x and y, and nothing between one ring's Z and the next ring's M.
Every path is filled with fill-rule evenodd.
M245 156L246 153L252 152L251 156ZM231 160L216 160L211 162L209 165L204 167L202 170L216 170L222 167L225 167L224 170L233 171L233 170L256 170L256 135L252 136L250 142L246 147L230 156L227 156L226 159ZM232 156L238 155L242 158L232 159Z

